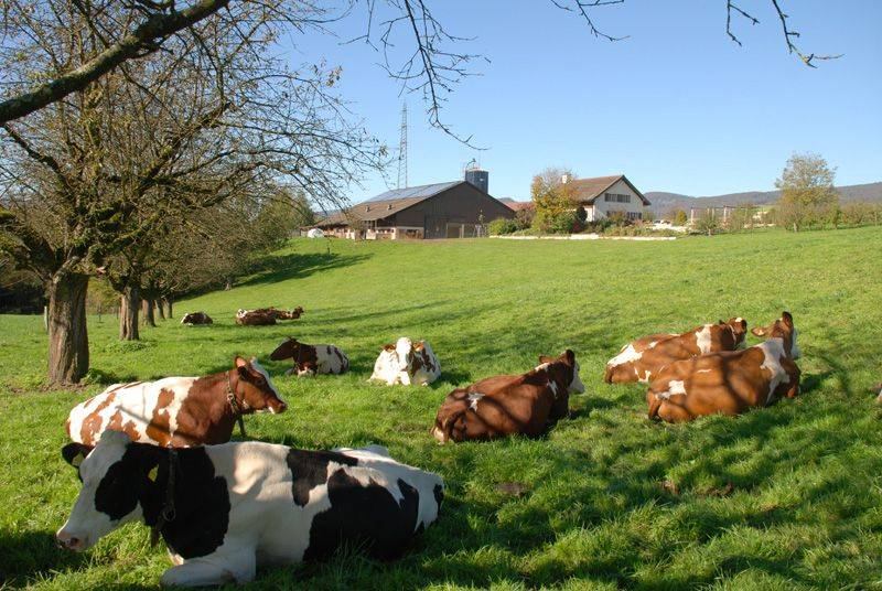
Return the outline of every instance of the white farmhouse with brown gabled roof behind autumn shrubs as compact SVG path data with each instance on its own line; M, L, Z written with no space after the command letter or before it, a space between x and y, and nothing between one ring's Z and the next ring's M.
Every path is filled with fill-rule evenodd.
M577 179L571 183L576 201L588 214L588 222L595 222L621 212L627 219L643 219L645 208L650 205L636 186L624 174Z

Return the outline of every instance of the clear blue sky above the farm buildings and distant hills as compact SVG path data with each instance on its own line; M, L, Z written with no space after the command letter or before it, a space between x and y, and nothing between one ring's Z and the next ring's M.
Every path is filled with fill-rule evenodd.
M529 198L531 176L552 165L624 172L643 191L716 195L773 189L794 151L824 155L838 184L882 181L882 1L781 3L804 51L843 57L813 69L788 55L771 0L741 0L761 21L734 21L741 47L725 35L724 0L595 9L601 30L630 35L615 43L550 1L429 0L451 33L474 37L453 49L490 61L474 63L480 76L458 85L442 111L480 152L431 128L421 96L402 96L379 54L341 43L364 32L364 14L333 24L336 37L289 36L283 47L292 64L341 65L354 114L394 149L407 100L411 185L459 179L476 158L497 197ZM394 187L396 175L370 175L348 197Z

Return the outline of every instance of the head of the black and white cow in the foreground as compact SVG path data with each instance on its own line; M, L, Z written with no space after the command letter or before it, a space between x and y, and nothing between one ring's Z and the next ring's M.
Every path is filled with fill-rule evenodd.
M155 486L155 454L139 453L129 436L107 430L94 449L68 443L62 455L77 469L83 488L67 522L55 534L60 546L86 550L122 524L142 516L143 493Z

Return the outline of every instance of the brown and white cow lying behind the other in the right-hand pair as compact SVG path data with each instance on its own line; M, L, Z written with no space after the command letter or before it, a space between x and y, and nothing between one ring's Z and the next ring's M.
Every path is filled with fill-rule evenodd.
M747 322L741 318L702 324L685 333L649 334L623 346L619 355L606 363L603 380L606 384L649 382L662 367L677 359L735 351L743 346Z

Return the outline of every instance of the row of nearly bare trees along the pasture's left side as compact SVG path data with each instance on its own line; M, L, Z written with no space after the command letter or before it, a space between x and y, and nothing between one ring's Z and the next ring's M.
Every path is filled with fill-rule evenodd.
M125 2L78 6L8 7L20 50L0 54L8 79L86 63L107 49L104 31L137 18ZM270 53L283 23L314 18L282 0L236 3L2 126L0 248L45 286L51 383L88 368L90 277L120 294L120 337L138 339L142 298L229 277L284 237L305 191L332 203L380 165L383 147L334 94L340 72Z

